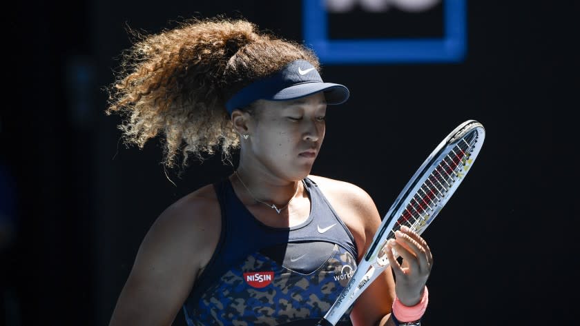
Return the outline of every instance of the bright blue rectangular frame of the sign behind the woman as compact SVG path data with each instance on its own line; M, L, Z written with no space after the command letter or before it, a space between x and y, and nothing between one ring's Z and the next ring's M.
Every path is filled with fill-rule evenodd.
M409 6L412 2L423 3L424 8L434 5L432 0L302 0L302 30L305 43L316 52L322 63L463 61L467 44L465 0L443 1L443 38L329 39L327 10L340 12L344 11L340 6L356 4L363 6L367 11L372 11L368 8L373 6L377 10L384 10L387 6L407 8L407 12L419 10L418 7Z

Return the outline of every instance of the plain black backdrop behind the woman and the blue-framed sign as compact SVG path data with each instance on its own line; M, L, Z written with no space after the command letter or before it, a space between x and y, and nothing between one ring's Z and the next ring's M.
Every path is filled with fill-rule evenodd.
M568 232L578 205L562 194L577 189L554 188L577 175L578 145L554 133L573 136L579 107L565 97L578 93L571 3L470 1L461 63L323 65L322 77L347 85L351 99L329 110L313 174L363 187L379 212L458 123L476 119L487 130L467 182L423 234L436 260L425 325L572 322L578 258ZM181 178L169 172L174 186L159 141L144 150L119 143L103 88L130 45L125 24L159 32L180 17L241 14L302 41L301 1L14 6L5 11L0 109L0 163L12 180L3 221L13 227L2 247L2 318L107 325L155 218L233 170L219 155L191 162ZM182 312L174 325L184 325Z

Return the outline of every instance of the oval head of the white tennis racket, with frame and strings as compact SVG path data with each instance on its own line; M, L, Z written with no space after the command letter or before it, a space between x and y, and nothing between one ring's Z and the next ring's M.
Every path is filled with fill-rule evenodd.
M485 128L475 120L461 123L445 136L385 214L365 255L366 261L377 258L380 265L388 264L385 253L380 251L403 225L417 234L427 229L465 179L484 140Z

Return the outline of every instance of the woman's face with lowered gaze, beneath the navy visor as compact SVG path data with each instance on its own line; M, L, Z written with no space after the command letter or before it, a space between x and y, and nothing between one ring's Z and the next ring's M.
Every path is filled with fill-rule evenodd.
M324 94L290 101L259 100L255 109L247 123L251 139L242 140L242 154L253 156L255 166L276 176L304 179L325 138Z

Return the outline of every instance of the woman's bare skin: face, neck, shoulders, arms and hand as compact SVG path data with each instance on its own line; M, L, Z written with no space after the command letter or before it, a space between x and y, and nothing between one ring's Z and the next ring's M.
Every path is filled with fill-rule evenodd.
M290 227L309 215L309 197L300 182L308 176L353 234L360 261L381 222L376 205L356 185L309 175L325 137L327 105L323 94L298 101L260 100L255 108L253 114L235 110L231 116L235 130L249 135L248 139L242 137L238 175L260 201L284 207L293 199L277 214L256 202L232 175L235 193L262 223ZM301 155L304 152L313 155ZM173 323L218 244L220 214L213 186L206 185L180 198L157 218L139 247L110 326ZM192 248L195 254L191 254ZM396 261L392 249L403 257L403 265ZM391 267L356 300L351 312L355 326L394 326L390 313L395 293L404 305L416 305L421 300L433 264L425 240L402 228L385 251Z

